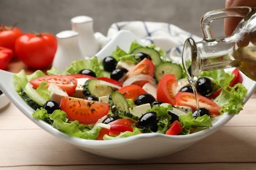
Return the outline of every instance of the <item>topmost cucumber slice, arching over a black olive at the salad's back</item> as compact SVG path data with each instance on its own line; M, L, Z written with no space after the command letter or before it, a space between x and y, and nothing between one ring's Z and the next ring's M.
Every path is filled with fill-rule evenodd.
M139 47L139 48L135 48L135 50L133 50L133 54L136 53L145 53L148 54L148 56L151 57L152 62L154 63L154 65L158 65L161 63L161 56L160 53L157 50L154 50L153 48L148 48L148 47Z

